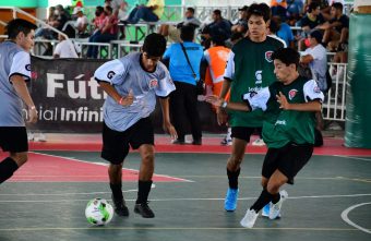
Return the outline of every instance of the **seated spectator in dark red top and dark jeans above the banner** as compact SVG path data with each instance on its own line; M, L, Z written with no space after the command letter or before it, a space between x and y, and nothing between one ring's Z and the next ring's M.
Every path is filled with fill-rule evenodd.
M112 8L109 5L105 7L106 19L104 21L103 27L93 34L88 41L89 43L109 43L117 38L118 35L118 19L112 13ZM87 58L96 59L98 56L97 46L88 46Z

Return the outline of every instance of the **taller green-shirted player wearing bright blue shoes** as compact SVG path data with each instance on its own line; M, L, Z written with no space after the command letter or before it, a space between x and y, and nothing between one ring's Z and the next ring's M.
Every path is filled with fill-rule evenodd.
M276 81L271 55L282 48L283 44L266 35L270 19L271 9L267 4L250 5L248 10L249 36L239 40L229 53L220 98L225 98L230 89L230 100L240 101L242 94L266 87ZM217 118L219 124L228 120L231 126L232 148L227 161L229 185L224 207L227 212L234 212L237 208L238 178L246 147L255 129L262 126L263 112L260 110L253 112L229 110L227 112L218 108Z

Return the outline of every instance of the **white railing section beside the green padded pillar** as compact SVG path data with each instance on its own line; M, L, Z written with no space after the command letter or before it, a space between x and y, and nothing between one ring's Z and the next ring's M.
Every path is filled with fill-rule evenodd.
M333 85L327 93L322 106L325 120L345 121L346 88L347 88L347 63L328 63Z

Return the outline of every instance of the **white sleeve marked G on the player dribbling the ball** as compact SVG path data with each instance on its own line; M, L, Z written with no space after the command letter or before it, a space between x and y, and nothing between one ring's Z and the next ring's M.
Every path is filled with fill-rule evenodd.
M127 71L119 60L111 60L99 67L95 73L94 79L98 82L108 82L110 84L120 84L123 80L122 75Z

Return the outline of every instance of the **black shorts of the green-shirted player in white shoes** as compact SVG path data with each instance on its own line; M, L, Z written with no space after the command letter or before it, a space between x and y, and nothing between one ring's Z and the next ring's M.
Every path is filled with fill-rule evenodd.
M268 148L262 168L262 176L270 179L275 170L287 178L287 183L294 184L295 176L308 162L313 154L313 145L296 145L289 143L280 148Z

